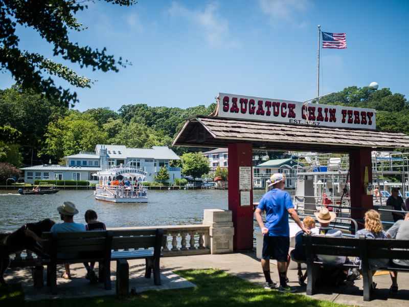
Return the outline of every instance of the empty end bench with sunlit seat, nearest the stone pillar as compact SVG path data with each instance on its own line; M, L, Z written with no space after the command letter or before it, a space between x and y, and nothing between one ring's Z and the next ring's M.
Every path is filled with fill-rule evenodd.
M145 259L145 277L153 273L154 284L161 285L160 257L165 240L164 229L113 230L111 260L117 261L117 294L129 291L127 260L131 259Z

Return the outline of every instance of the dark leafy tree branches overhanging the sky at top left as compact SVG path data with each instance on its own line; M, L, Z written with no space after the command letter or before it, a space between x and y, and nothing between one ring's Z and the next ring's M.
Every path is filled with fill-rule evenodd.
M131 6L134 0L105 0L120 6ZM103 72L118 72L127 61L116 60L106 54L106 49L93 50L89 46L81 47L69 39L69 32L85 30L75 15L88 6L86 1L2 1L0 6L0 64L1 69L11 72L13 78L24 88L43 93L54 102L68 106L78 101L77 94L69 89L55 85L52 76L57 76L76 87L90 87L90 79L77 75L61 63L56 63L39 53L21 50L16 34L17 24L30 27L53 45L53 56L77 63L80 68L91 67Z

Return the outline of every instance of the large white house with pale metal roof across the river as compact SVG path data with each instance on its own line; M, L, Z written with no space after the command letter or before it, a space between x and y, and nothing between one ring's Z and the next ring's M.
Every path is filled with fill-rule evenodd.
M166 167L171 183L181 177L180 167L169 167L170 160L180 158L166 146L153 146L152 148L127 148L123 145L101 145L95 147L95 152L80 152L76 155L64 157L63 165L36 165L21 168L25 171L24 179L27 183L34 180L98 180L93 176L99 170L104 170L112 165L123 165L128 162L132 166L142 168L147 172L145 181L153 182L155 174L161 167Z

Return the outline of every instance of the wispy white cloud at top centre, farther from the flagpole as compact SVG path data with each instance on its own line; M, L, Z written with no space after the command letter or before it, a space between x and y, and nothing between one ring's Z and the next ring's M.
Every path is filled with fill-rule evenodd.
M169 8L172 17L182 17L191 24L203 30L204 36L210 45L237 46L237 42L229 39L229 23L218 14L217 3L208 4L204 10L189 10L187 7L173 2Z

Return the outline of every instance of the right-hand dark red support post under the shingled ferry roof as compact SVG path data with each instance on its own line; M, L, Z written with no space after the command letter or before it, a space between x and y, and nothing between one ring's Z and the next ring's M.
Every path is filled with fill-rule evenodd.
M373 209L372 195L365 191L365 169L368 170L368 182L372 182L372 158L370 149L355 149L349 152L350 190L351 190L351 217L363 220L365 212ZM358 223L358 228L363 228L363 223Z

